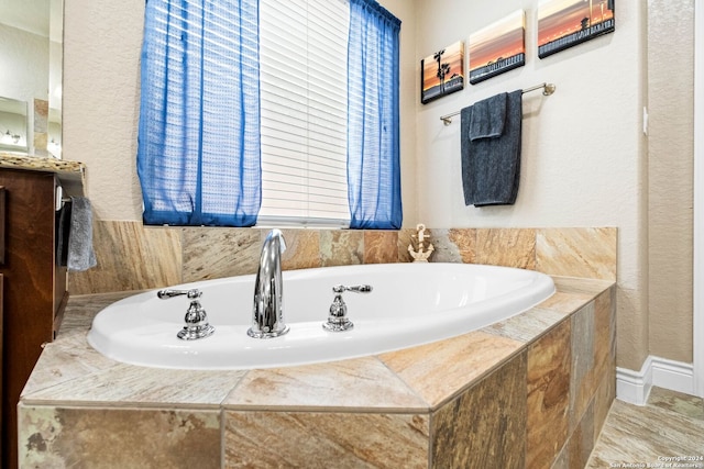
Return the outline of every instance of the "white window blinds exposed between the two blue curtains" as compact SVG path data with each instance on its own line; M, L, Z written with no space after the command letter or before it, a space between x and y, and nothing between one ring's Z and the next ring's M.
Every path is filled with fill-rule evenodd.
M261 0L258 224L348 226L349 4Z

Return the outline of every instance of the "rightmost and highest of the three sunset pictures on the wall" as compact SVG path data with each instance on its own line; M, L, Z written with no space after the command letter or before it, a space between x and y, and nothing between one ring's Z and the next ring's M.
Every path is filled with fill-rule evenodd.
M538 57L616 30L616 0L543 0L538 4Z

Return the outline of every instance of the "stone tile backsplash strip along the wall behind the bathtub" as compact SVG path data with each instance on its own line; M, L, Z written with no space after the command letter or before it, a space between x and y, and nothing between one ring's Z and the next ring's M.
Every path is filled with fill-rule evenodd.
M413 228L283 230L283 268L407 263ZM264 228L161 227L96 221L98 266L69 272L72 294L145 290L256 271ZM614 227L430 228L430 261L487 264L616 280ZM415 244L414 244L415 246Z

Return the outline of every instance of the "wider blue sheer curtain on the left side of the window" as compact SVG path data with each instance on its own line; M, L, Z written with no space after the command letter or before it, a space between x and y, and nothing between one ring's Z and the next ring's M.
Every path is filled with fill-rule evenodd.
M144 223L254 225L257 0L147 0L141 72Z

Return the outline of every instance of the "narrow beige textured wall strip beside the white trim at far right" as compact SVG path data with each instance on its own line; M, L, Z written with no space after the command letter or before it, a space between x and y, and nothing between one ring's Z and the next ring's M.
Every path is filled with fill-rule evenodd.
M694 0L648 2L650 353L692 361Z

